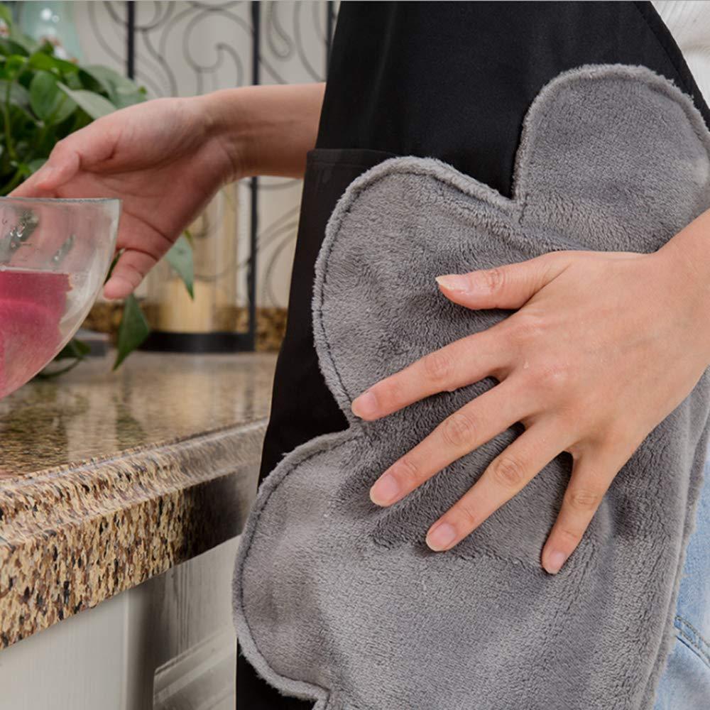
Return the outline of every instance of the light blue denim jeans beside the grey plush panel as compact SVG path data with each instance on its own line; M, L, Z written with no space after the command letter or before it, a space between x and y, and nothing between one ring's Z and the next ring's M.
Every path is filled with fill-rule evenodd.
M710 708L710 449L696 527L680 583L675 644L658 685L654 710Z

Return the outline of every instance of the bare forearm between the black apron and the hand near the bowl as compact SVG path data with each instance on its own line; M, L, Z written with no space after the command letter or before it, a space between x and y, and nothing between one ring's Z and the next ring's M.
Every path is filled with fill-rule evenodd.
M325 84L243 87L197 97L209 133L229 156L232 179L301 178L315 146Z

